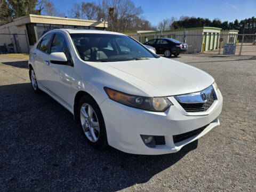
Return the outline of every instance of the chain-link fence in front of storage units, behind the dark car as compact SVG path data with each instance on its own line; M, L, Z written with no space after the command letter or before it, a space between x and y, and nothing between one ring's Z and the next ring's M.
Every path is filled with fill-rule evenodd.
M173 38L180 42L186 42L188 44L188 53L206 53L206 54L223 54L226 49L231 49L228 46L232 46L232 51L224 52L224 54L234 55L248 55L256 56L256 34L147 34L147 35L130 35L142 44L145 42L145 38L148 40L154 38Z

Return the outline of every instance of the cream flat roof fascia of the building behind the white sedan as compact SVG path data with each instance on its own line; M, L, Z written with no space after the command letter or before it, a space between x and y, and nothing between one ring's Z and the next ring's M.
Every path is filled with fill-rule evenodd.
M71 25L71 26L86 26L86 27L108 27L107 21L94 21L94 20L85 20L85 19L74 19L74 18L63 18L63 17L52 17L46 15L35 15L29 14L17 19L14 19L13 22L7 23L3 26L0 26L0 29L7 28L11 26L20 26L26 23L44 23L44 24L53 24L53 25Z

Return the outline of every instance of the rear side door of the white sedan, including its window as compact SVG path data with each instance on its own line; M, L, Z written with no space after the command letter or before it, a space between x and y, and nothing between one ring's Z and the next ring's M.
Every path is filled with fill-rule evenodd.
M49 58L49 48L51 45L53 34L44 36L37 44L35 49L35 73L37 82L44 87L46 86L45 67L47 67L47 60Z

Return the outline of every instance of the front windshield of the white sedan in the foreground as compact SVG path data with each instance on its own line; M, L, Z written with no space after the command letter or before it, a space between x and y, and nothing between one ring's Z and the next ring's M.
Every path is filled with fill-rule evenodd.
M79 57L84 61L127 61L158 58L125 35L70 34Z

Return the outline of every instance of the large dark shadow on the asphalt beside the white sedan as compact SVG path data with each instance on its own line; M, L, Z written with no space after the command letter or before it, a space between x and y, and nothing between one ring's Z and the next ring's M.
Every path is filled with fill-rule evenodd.
M95 150L73 116L29 83L0 86L0 185L6 191L116 191L151 177L197 148L145 156Z

